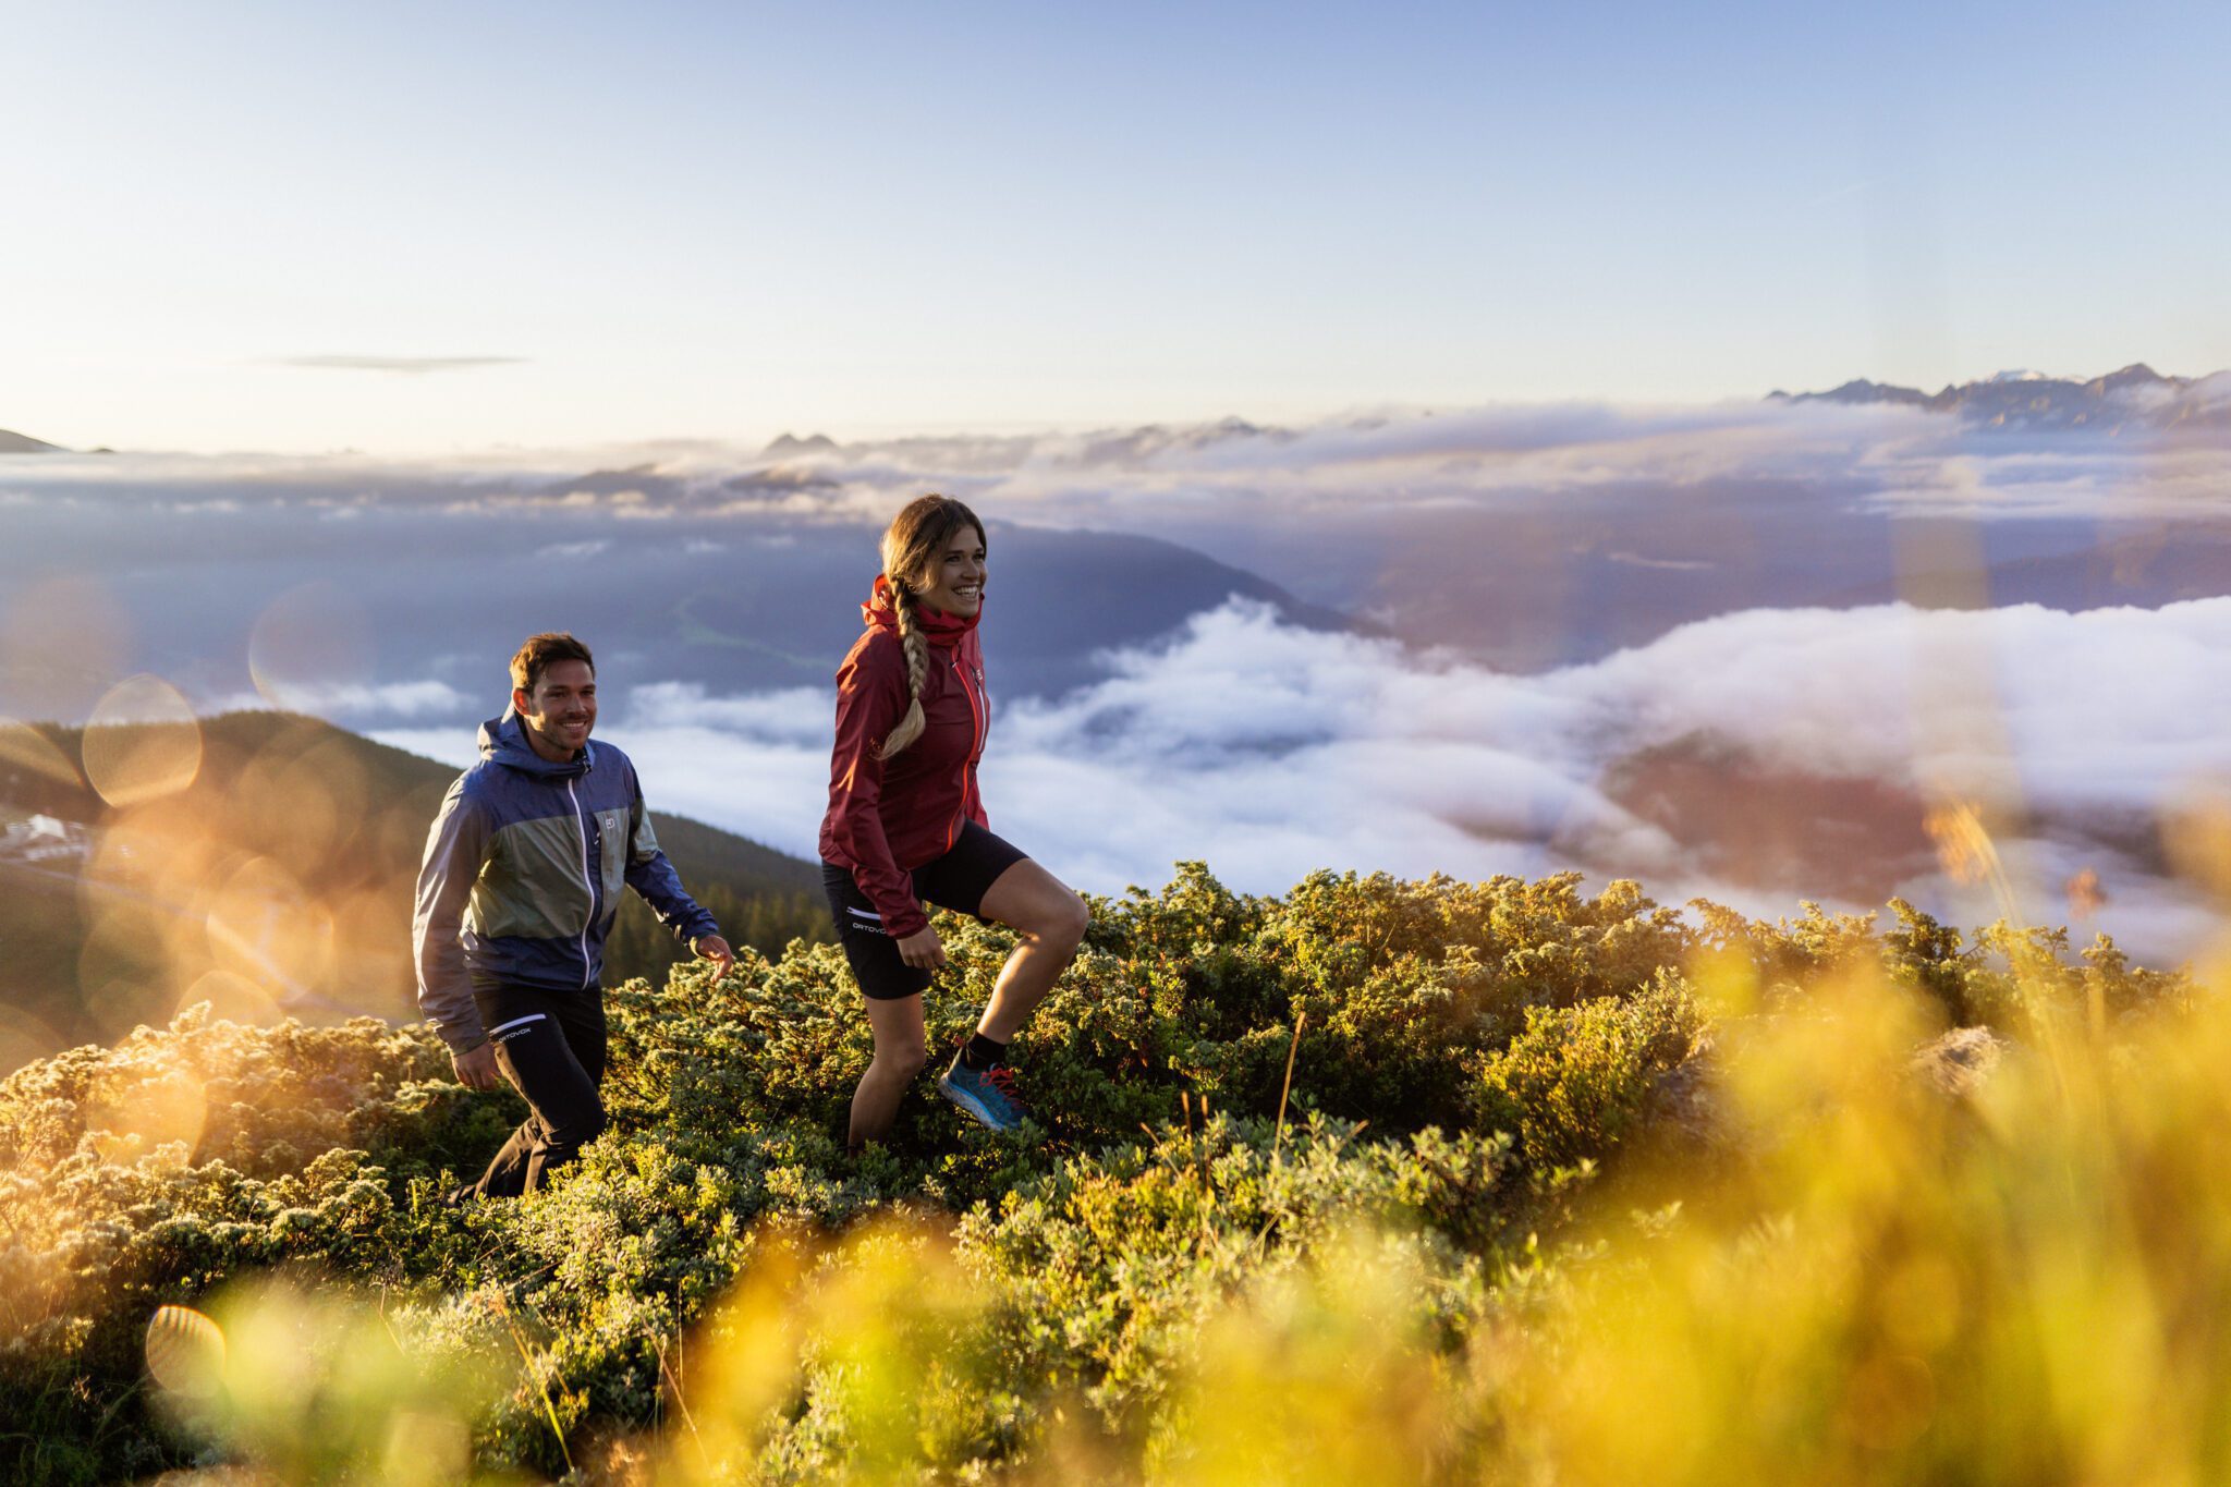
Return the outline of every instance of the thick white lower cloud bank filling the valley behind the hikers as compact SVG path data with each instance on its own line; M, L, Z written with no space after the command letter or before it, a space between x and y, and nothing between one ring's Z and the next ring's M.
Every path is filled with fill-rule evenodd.
M1234 604L1113 658L1095 687L1002 709L984 791L995 829L1102 892L1162 883L1180 858L1256 892L1314 867L1580 867L1765 914L1901 892L1981 923L2001 912L1995 894L1945 876L1919 836L1921 811L1963 803L2003 832L2015 912L2068 923L2064 885L2090 869L2108 905L2079 939L2106 927L2177 956L2209 939L2213 914L2133 840L2184 791L2231 778L2224 655L2231 600L2086 615L1879 606L1729 615L1604 662L1510 676ZM660 684L609 709L605 733L663 807L812 856L830 707L821 689ZM384 738L469 754L462 733ZM1725 823L1698 832L1678 800L1635 785L1675 778L1638 774L1667 758L1702 760L1738 791L1800 780L1809 794L1791 798L1823 816L1778 823L1794 854L1745 861L1716 840ZM1899 811L1912 820L1872 820ZM1854 881L1854 820L1883 827L1870 838L1881 861L1861 865L1872 898L1827 887Z

